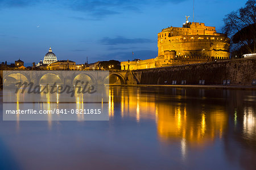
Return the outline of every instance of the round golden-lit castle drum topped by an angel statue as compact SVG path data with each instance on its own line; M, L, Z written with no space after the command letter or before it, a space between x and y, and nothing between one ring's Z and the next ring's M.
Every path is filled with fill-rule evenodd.
M229 58L229 38L204 23L186 22L183 27L168 27L158 33L158 56L164 51L176 51L177 56L207 56Z

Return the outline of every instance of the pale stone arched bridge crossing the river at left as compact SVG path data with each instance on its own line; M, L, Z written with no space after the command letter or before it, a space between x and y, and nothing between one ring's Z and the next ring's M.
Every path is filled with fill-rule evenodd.
M127 84L127 71L1 71L1 82L8 80L34 82L34 84L75 84L76 80L89 81L90 84L109 84L109 78L117 78Z

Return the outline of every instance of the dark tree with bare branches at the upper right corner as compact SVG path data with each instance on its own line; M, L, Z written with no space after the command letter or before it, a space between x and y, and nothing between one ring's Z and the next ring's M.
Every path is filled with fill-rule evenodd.
M245 3L245 7L232 11L224 18L222 31L231 39L230 50L232 57L256 52L255 4L255 0L249 0Z

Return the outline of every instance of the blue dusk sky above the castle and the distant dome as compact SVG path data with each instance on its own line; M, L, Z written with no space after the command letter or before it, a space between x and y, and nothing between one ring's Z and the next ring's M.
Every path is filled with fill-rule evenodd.
M195 0L195 22L221 32L226 14L246 1ZM51 46L58 60L77 64L157 56L157 34L193 18L192 0L0 0L0 61L38 63Z

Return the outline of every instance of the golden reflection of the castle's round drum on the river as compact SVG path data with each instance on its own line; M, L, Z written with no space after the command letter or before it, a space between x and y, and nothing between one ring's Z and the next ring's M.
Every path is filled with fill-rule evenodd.
M222 110L203 112L195 116L187 114L185 107L163 106L160 108L162 109L158 111L157 126L159 138L162 141L185 139L191 145L202 146L216 136L221 138L222 131L228 123L228 117Z

